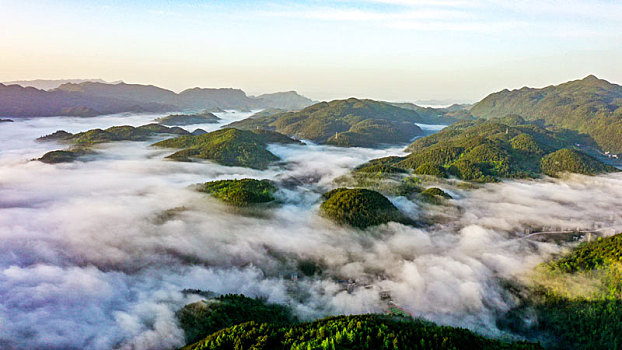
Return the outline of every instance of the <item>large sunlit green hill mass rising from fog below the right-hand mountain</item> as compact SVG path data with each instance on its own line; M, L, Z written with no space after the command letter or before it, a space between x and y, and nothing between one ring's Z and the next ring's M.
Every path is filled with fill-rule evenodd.
M589 142L568 130L545 129L518 116L461 121L416 140L406 157L387 157L360 166L384 166L437 177L493 182L499 178L530 178L563 172L597 174L616 171L575 149Z

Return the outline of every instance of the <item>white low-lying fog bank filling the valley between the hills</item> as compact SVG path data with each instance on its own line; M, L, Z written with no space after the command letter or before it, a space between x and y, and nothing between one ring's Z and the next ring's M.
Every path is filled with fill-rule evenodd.
M106 122L94 118L81 130ZM3 349L179 346L174 312L196 298L184 288L266 296L306 318L382 312L379 292L389 291L415 316L498 334L494 320L513 303L499 279L563 249L520 239L525 228L622 228L619 174L451 188L460 209L434 209L445 211L446 223L363 232L318 217L320 192L348 169L400 149L272 146L285 170L266 171L164 161L148 143L102 146L90 162L29 162L53 147L32 142L52 129L45 123L0 127L0 140L13 142L0 151ZM239 215L188 189L241 177L281 181L284 204ZM321 277L280 278L300 260L321 266ZM349 290L339 282L348 279L357 281Z

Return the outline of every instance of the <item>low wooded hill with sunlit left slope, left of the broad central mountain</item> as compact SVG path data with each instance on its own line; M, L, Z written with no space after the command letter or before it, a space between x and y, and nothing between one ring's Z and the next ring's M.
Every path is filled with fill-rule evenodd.
M210 159L228 166L266 169L279 160L266 149L268 143L299 143L289 137L267 130L221 129L203 135L187 135L154 144L156 147L183 148L167 158L190 161Z

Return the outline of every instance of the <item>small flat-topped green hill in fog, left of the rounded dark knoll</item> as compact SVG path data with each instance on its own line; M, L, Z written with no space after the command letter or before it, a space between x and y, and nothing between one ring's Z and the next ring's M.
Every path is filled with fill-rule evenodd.
M241 179L206 182L198 190L225 203L245 207L273 201L276 187L270 180Z

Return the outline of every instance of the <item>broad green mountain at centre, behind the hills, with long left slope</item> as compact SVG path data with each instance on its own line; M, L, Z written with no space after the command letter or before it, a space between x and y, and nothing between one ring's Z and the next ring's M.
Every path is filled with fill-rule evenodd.
M343 147L376 147L411 141L423 132L414 123L422 119L415 111L373 100L320 102L298 112L247 118L229 124L238 129L266 129Z

